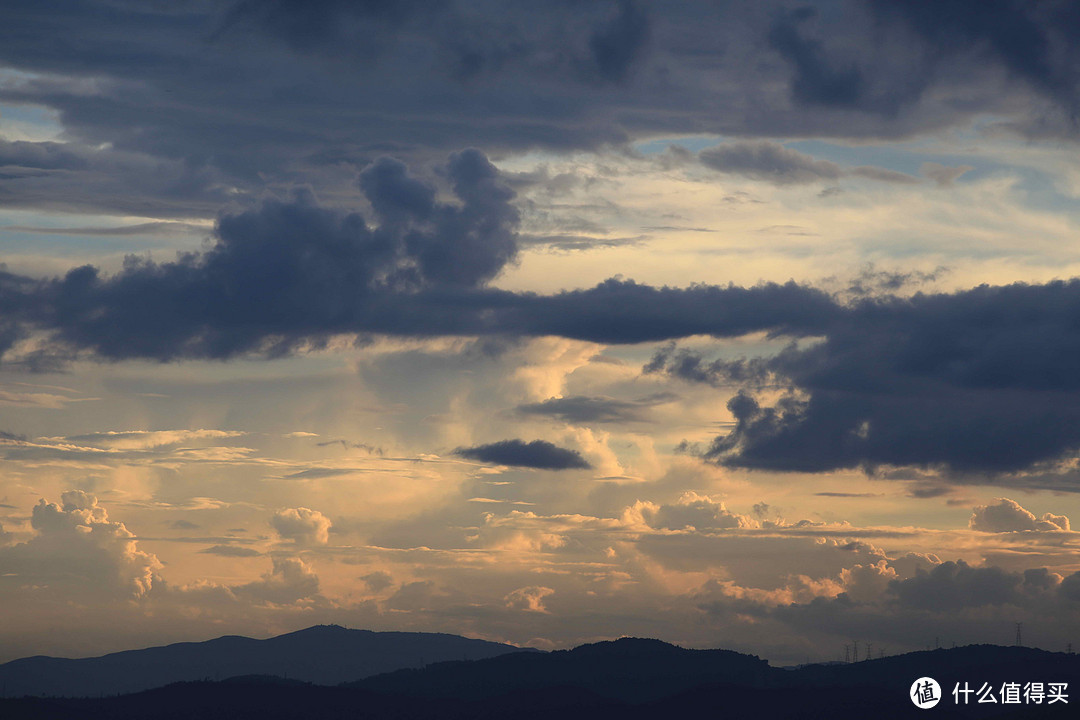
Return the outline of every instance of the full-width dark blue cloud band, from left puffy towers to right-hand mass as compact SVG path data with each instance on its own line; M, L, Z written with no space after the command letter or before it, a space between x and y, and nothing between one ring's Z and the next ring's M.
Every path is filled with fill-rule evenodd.
M850 303L794 283L680 289L609 280L550 296L508 293L485 283L516 252L512 193L475 150L443 172L456 204L437 201L396 161L373 163L361 187L377 226L300 193L221 218L217 245L174 262L133 259L112 276L84 267L53 281L0 274L0 340L10 349L46 334L51 342L14 359L48 368L86 353L273 356L341 332L604 343L815 337L742 359L671 345L646 370L744 389L729 405L734 430L705 452L731 465L920 466L958 481L1011 473L1014 485L1075 489L1047 471L1080 447L1077 282ZM765 407L753 391L766 385L791 392ZM530 409L627 417L569 398Z

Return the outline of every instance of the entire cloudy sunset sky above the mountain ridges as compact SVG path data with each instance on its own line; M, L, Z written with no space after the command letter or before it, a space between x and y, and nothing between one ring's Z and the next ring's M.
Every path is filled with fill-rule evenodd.
M1066 0L0 8L0 662L1080 642Z

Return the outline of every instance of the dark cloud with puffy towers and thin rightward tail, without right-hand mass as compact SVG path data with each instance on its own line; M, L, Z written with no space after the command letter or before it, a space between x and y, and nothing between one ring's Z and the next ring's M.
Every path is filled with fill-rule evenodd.
M839 309L795 283L651 287L609 280L551 296L485 287L516 256L513 193L476 150L444 171L459 202L397 161L361 174L377 226L307 191L220 218L217 243L172 262L131 257L104 275L0 272L0 350L31 332L51 342L17 358L52 369L79 353L159 361L273 356L341 332L562 336L633 343L689 335L821 331Z

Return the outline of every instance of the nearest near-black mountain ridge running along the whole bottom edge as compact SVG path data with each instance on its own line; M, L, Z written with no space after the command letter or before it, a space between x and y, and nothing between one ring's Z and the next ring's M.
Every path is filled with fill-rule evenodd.
M941 703L920 710L912 683L935 678ZM957 705L954 683L983 683L996 703ZM1001 702L1003 682L1067 683L1068 703ZM1076 696L1074 697L1074 693ZM1080 656L972 646L861 663L775 668L724 650L623 639L552 653L438 663L334 688L272 677L186 682L108 698L0 699L0 718L141 720L349 718L464 720L619 718L1066 718L1080 704Z

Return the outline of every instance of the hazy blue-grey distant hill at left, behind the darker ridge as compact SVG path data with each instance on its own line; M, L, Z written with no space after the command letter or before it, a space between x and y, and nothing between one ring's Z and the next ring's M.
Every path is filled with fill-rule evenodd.
M373 633L316 625L267 640L226 636L100 657L24 657L0 665L0 696L93 697L185 680L251 675L338 684L430 663L482 660L521 651L457 635Z

